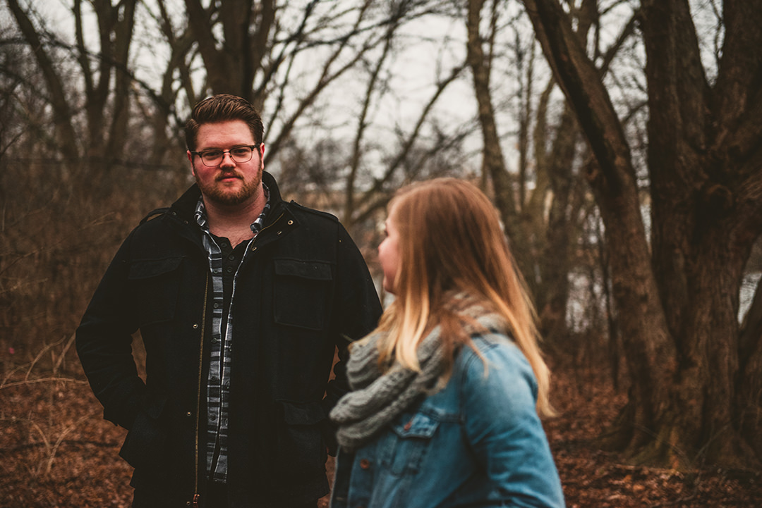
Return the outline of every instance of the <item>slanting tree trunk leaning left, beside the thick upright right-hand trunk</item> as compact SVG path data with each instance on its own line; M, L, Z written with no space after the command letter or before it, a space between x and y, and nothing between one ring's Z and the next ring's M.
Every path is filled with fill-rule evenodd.
M677 364L651 270L629 146L598 71L560 5L555 0L524 5L597 160L588 179L606 227L613 297L621 310L628 371L636 379L621 420L627 425L616 434L616 444L632 452L652 442L665 418L671 400L665 380L673 378Z

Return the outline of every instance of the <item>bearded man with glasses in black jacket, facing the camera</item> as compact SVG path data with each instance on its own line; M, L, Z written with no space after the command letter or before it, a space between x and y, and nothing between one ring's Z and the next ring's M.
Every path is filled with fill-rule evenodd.
M197 104L196 185L130 233L77 329L104 418L129 430L137 508L315 506L328 493L328 411L348 389L343 361L328 383L335 348L343 360L381 306L338 220L281 200L262 134L240 97Z

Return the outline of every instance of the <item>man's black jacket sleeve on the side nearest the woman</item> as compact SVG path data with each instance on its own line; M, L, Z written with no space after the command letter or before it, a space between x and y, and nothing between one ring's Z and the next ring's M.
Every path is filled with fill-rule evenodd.
M382 312L373 278L360 250L341 224L338 228L336 294L331 316L331 333L338 348L338 362L334 367L335 378L328 383L323 399L328 424L330 420L327 415L331 408L349 391L345 369L347 348L351 341L363 338L376 328ZM335 428L330 425L331 434L334 434ZM331 454L335 452L335 446L329 444L329 449Z

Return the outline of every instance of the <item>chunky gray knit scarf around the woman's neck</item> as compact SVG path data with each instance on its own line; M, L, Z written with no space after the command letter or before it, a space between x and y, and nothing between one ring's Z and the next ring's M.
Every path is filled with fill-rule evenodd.
M474 300L459 294L453 300L458 313L465 317L468 335L498 329L504 332L504 319ZM385 332L374 332L356 342L347 362L347 378L352 392L339 400L331 411L331 420L338 424L338 443L349 451L356 450L376 436L399 414L434 392L447 365L437 325L418 345L421 372L394 362L389 370L379 370L379 340Z

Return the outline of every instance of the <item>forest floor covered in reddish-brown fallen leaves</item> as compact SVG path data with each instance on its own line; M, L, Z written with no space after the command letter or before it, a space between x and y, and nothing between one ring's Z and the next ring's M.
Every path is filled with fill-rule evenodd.
M132 470L117 456L125 430L102 419L81 371L69 370L69 380L0 373L4 508L130 506ZM760 472L646 468L602 451L598 438L626 400L605 372L556 367L552 398L560 415L546 431L569 508L762 506Z

